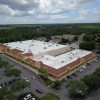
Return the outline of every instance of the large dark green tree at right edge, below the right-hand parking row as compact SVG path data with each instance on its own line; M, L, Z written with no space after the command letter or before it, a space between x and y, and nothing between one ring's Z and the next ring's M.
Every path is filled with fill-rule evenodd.
M100 78L95 74L86 75L81 80L89 87L89 90L100 87Z

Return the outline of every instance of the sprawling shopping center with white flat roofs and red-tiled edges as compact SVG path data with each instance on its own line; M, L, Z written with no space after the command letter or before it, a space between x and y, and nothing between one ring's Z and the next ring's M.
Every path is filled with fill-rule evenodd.
M70 51L69 45L37 40L0 44L0 52L23 63L24 67L35 73L39 68L46 69L51 80L61 80L96 58L94 52L80 49Z

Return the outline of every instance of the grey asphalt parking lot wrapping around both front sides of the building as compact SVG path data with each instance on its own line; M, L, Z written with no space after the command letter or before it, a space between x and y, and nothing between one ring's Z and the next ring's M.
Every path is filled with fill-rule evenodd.
M65 81L64 81L64 82L62 83L62 85L61 85L60 90L54 91L54 90L52 90L51 88L49 88L49 87L47 87L46 85L44 85L44 84L40 81L40 79L38 78L38 76L37 76L34 72L32 72L32 71L28 70L27 68L21 66L21 65L18 64L17 62L15 62L15 61L9 59L9 57L7 57L7 56L5 56L5 55L2 55L2 54L1 54L0 57L2 57L3 60L6 60L6 61L8 61L10 64L14 65L16 68L20 69L20 70L22 71L21 78L27 78L27 79L29 80L29 82L31 83L31 86L32 86L32 87L31 87L31 88L25 89L25 92L32 92L32 93L34 93L34 94L36 94L37 96L40 96L40 97L43 96L43 95L44 95L45 93L47 93L47 92L53 92L53 93L55 93L55 94L58 94L58 95L60 96L61 100L70 100L70 99L68 98L68 91L67 91L67 89L65 88L65 86L66 86L66 84L68 84L68 82L65 82ZM69 78L68 81L73 80L73 79L79 80L79 79L82 78L83 76L92 73L92 72L93 72L96 68L98 68L98 67L100 67L100 58L98 58L97 61L91 62L90 65L86 65L86 69L84 69L83 72L78 72L78 71L75 72L75 74L76 74L77 76L76 76L76 75L70 75L70 77L71 77L72 79ZM1 75L1 77L2 77L2 79L0 79L0 83L5 82L5 81L9 81L9 80L12 79L12 77L11 77L11 78L8 78L8 77L5 77L5 76L4 76L3 69L0 70L0 75ZM35 79L32 79L31 76L34 76ZM43 94L37 93L37 92L35 91L37 88L42 89L42 90L43 90Z

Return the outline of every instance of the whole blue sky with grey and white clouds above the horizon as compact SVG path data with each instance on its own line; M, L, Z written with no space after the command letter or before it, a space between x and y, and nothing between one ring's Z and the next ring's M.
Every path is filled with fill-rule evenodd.
M0 0L0 24L96 22L100 0Z

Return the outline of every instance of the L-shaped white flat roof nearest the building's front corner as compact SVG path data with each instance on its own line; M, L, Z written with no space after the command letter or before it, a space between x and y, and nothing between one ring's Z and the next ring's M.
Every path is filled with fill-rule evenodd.
M50 55L44 55L44 56L39 56L37 58L34 58L34 60L42 61L45 65L48 65L55 69L59 69L65 65L77 60L78 58L86 56L90 53L91 53L90 51L76 49L76 50L70 51L68 53L61 54L56 57L53 57Z

